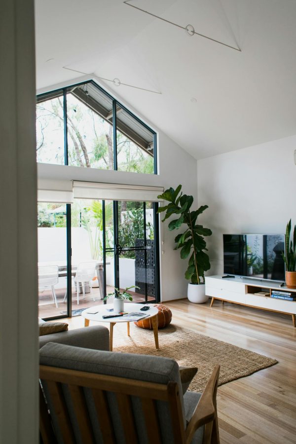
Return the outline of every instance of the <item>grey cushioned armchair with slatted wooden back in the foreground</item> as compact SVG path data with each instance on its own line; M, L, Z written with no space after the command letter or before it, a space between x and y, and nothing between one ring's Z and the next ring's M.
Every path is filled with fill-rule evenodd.
M40 436L50 444L218 444L218 377L216 366L202 395L183 396L173 359L48 343Z

